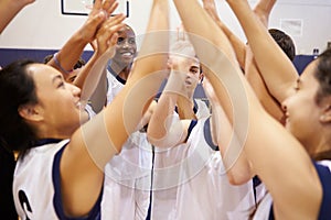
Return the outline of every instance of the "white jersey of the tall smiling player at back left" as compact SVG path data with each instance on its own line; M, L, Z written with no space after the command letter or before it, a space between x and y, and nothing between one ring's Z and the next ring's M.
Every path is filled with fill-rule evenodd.
M124 84L107 70L107 103L122 89ZM151 145L146 133L129 135L121 152L105 167L103 219L146 219L151 185Z

